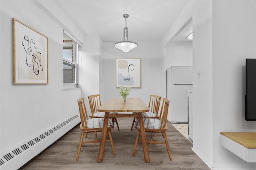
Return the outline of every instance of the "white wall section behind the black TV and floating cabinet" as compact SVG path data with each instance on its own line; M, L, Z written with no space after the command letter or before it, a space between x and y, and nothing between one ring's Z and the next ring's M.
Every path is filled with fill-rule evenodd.
M219 145L221 131L256 131L244 102L245 59L256 58L256 1L213 1L212 9L214 168L256 169Z

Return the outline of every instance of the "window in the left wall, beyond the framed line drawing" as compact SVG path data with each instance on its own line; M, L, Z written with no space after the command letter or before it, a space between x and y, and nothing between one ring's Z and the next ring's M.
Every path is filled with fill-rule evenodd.
M78 55L81 46L63 33L63 83L64 88L77 88Z

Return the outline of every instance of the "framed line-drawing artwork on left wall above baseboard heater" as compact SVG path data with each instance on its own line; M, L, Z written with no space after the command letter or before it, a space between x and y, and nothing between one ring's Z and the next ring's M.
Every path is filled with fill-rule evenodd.
M13 83L48 84L48 37L13 18Z

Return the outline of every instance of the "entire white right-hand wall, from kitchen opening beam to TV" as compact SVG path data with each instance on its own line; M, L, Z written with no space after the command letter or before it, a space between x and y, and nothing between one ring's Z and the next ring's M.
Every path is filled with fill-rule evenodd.
M162 39L168 44L192 17L193 150L214 170L256 167L220 145L221 131L256 130L255 121L244 119L245 59L256 53L255 8L255 1L190 1Z

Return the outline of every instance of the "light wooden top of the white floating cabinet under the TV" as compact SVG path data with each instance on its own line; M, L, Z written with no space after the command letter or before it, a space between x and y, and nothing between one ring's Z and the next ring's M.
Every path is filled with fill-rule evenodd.
M248 149L256 149L256 132L220 132Z

